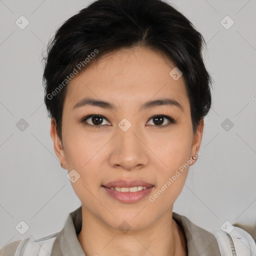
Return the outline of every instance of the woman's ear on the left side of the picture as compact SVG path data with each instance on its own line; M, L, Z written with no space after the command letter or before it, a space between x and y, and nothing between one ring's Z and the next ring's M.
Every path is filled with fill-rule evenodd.
M56 129L56 123L53 118L51 118L51 124L50 124L50 136L53 141L53 147L56 156L58 157L60 163L62 163L62 168L66 169L66 159L65 159L65 153L64 149L62 147L61 140L57 134L57 129Z

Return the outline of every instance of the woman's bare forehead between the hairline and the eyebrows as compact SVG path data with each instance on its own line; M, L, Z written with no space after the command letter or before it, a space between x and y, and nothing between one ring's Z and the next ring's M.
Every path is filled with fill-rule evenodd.
M69 82L64 108L84 97L114 102L120 108L169 97L189 107L183 77L174 80L169 74L174 67L163 54L144 47L116 50L92 62Z

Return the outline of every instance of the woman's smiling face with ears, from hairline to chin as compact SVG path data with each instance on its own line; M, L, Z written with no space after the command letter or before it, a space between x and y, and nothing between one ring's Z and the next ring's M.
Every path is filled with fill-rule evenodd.
M183 77L169 74L174 67L159 52L138 46L101 57L68 84L63 149L51 123L55 153L72 171L83 211L110 227L125 220L139 229L169 216L188 171L181 166L195 162L191 156L199 150L203 122L193 134ZM105 102L89 104L83 101L88 97ZM159 99L168 104L145 104ZM146 194L137 201L134 195L133 201L120 201L103 186L115 180L153 186L136 192Z

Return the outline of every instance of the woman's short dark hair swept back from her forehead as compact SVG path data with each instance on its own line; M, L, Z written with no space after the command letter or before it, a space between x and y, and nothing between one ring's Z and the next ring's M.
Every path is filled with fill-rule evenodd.
M74 70L79 74L103 54L136 45L160 51L182 72L194 133L211 106L202 43L193 24L163 0L96 0L68 18L48 42L43 72L44 102L61 141L63 102Z

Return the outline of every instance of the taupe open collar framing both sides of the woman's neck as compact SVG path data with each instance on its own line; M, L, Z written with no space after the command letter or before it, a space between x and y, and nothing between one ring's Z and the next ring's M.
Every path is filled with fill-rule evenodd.
M213 234L193 224L187 217L172 212L172 218L183 229L188 256L220 256L219 247ZM81 230L81 206L69 213L62 230L57 234L51 249L52 256L85 256L77 239Z

